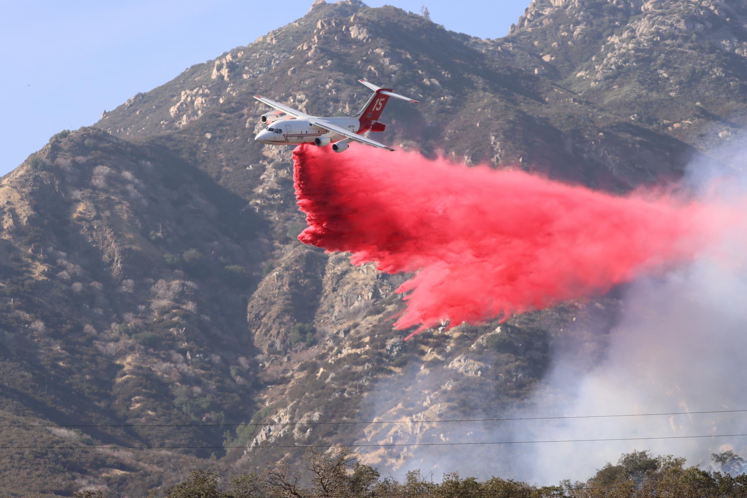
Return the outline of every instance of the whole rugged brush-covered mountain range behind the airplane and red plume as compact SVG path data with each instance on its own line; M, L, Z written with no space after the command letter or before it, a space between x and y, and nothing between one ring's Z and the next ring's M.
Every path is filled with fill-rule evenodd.
M317 0L55 135L0 185L0 415L79 427L6 428L1 445L208 447L5 449L3 491L144 496L195 468L303 454L267 446L432 441L449 432L303 422L495 416L533 393L559 341L591 367L615 293L500 334L494 321L403 342L389 320L401 276L295 240L291 151L255 143L266 108L252 95L336 116L368 98L365 77L423 101L389 105L384 143L625 192L734 140L746 13L730 0L538 0L506 37L481 40L396 7ZM258 426L183 426L220 423ZM409 454L366 458L397 469Z

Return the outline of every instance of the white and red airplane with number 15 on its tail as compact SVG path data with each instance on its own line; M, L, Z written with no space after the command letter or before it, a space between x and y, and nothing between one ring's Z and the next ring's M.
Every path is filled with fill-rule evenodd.
M385 125L379 122L379 116L384 111L384 106L389 97L415 104L419 102L399 93L394 93L391 88L377 87L366 80L358 81L371 88L373 95L359 113L350 117L309 116L309 114L289 108L287 105L265 99L261 95L255 95L255 99L271 108L275 108L275 111L270 111L261 116L261 121L267 125L267 128L260 131L254 137L254 140L260 143L269 143L273 146L314 143L317 146L324 147L332 143L332 150L335 152L344 152L348 148L348 143L354 141L379 147L379 149L394 151L383 143L362 137L361 134L366 131L384 131Z

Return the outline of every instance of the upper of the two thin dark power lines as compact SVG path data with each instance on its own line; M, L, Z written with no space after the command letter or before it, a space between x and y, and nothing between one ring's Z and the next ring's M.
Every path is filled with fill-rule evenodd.
M450 420L341 420L338 422L270 422L270 423L122 423L122 424L4 424L0 428L8 427L239 427L239 426L335 426L357 424L387 424L387 423L457 423L457 422L508 422L512 420L572 420L589 418L619 418L619 417L660 417L664 415L696 415L696 414L726 414L743 413L745 410L710 410L710 411L668 411L653 414L619 414L619 415L579 415L557 417L505 417L505 418L471 418Z

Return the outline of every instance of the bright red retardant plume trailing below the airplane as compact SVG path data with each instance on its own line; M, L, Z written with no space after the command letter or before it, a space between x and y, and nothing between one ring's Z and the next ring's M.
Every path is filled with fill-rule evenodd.
M417 272L397 290L408 292L397 329L505 319L604 293L698 249L699 208L663 196L362 146L299 146L293 156L309 223L301 242L382 272Z

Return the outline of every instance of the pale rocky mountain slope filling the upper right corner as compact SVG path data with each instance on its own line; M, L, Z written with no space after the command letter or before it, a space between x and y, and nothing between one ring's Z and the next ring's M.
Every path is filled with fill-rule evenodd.
M747 5L732 0L537 0L509 37L548 77L701 148L744 119Z

